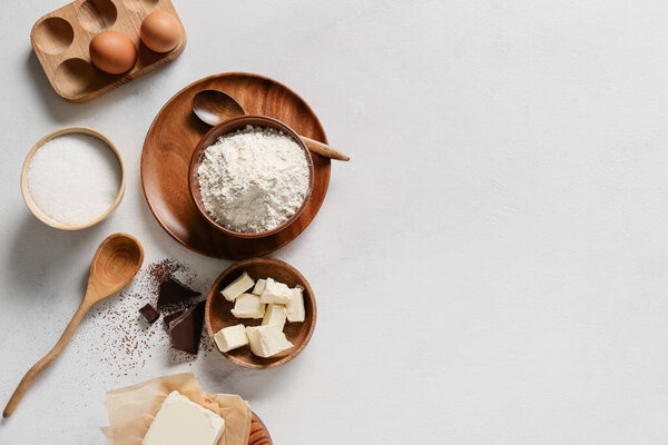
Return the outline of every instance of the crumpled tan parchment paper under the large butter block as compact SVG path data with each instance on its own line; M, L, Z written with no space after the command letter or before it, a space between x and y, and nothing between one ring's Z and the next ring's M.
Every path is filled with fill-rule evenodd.
M217 445L248 444L250 406L237 395L205 394L191 373L154 378L107 393L105 407L109 414L109 426L100 429L109 444L141 444L160 404L173 390L225 419L225 433Z

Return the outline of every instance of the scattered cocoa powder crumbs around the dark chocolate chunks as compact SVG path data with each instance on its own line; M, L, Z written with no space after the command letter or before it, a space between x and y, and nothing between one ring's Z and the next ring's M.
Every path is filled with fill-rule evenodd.
M163 323L163 316L184 309L202 297L173 305L153 325L144 323L138 312L147 303L155 307L160 283L170 277L189 286L195 275L187 266L174 259L151 263L143 268L132 284L118 296L92 307L87 320L81 325L81 332L75 337L76 342L72 342L75 346L86 348L87 355L105 364L114 377L136 376L147 362L165 356L169 365L188 363L191 366L197 356L169 346L169 333ZM205 289L195 290L206 295ZM215 345L209 336L203 333L199 356L214 349Z

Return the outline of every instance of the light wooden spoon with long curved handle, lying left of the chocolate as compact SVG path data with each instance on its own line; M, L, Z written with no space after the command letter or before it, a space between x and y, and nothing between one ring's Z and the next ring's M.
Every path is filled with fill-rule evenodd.
M35 378L62 353L88 309L130 283L139 271L143 261L144 248L130 235L114 234L100 244L90 263L88 286L81 305L75 313L69 325L67 325L67 328L65 328L56 346L26 373L7 403L2 413L3 417L11 416Z

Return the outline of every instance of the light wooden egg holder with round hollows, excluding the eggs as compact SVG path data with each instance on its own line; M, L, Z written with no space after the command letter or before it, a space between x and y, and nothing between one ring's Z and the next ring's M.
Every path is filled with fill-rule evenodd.
M169 12L180 24L181 40L169 52L154 52L139 38L141 21L155 11ZM109 75L90 62L90 40L107 30L137 46L137 63L128 72ZM58 96L86 102L175 60L186 47L186 30L170 0L76 0L40 18L30 41Z

